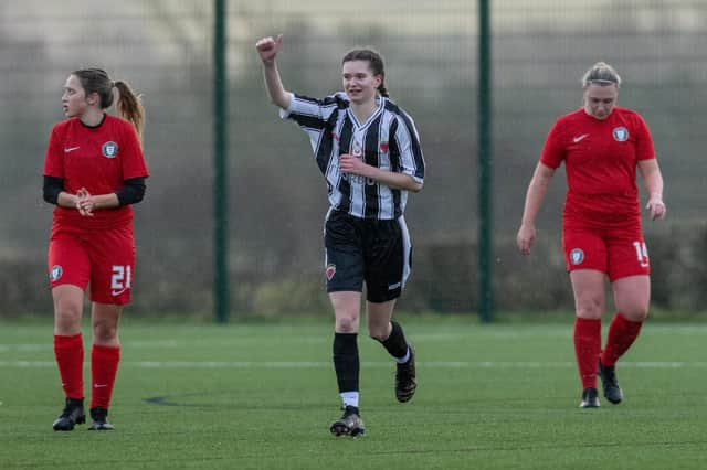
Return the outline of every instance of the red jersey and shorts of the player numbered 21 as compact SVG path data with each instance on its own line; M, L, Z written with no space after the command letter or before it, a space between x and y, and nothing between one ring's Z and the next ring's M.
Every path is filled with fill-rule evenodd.
M133 125L104 114L96 127L78 118L57 124L50 137L44 175L62 179L64 191L84 188L91 194L117 191L125 180L147 177L139 139ZM75 209L56 206L49 255L51 287L72 284L86 288L91 300L125 305L130 300L135 273L133 209L122 205L83 216ZM92 236L101 231L101 236ZM93 264L75 244L89 244Z

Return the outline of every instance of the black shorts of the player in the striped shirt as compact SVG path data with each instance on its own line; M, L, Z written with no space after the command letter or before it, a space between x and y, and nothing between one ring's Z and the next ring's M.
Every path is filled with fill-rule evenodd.
M324 227L327 292L360 292L386 302L400 297L410 275L412 246L405 221L354 217L329 211Z

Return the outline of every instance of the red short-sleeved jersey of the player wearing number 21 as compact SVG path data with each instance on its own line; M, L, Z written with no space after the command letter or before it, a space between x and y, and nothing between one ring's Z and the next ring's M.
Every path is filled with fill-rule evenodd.
M64 191L75 194L85 188L91 194L108 194L131 178L147 177L147 165L135 127L106 114L96 127L71 118L54 126L49 139L44 175L64 180ZM95 211L82 216L76 209L54 209L54 226L106 228L133 220L129 205Z

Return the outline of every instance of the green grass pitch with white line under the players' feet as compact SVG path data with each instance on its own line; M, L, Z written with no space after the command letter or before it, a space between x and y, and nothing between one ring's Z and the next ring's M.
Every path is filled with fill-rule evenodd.
M219 327L128 314L108 432L52 430L63 398L51 319L3 321L0 468L705 468L707 325L648 322L618 366L624 403L583 410L571 321L403 319L418 351L408 404L395 402L392 360L360 335L367 435L357 439L328 431L340 415L333 321ZM85 328L86 351L89 337Z

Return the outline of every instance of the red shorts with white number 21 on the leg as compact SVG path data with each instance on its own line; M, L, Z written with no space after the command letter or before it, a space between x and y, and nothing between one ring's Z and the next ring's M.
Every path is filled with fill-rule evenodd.
M135 279L133 226L101 232L54 228L49 244L50 287L71 284L86 290L98 303L130 301Z

